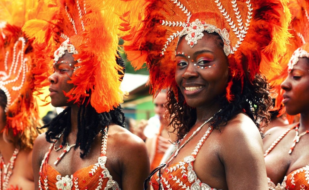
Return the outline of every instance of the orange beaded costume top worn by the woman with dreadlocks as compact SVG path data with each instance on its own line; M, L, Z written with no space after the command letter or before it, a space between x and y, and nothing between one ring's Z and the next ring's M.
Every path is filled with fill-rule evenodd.
M108 169L105 166L106 157L106 144L107 144L107 127L102 139L102 149L98 162L94 165L84 167L74 172L71 176L61 176L61 174L49 165L48 157L52 151L55 143L51 144L49 151L45 154L40 167L40 190L99 190L99 189L112 189L120 190L119 185L112 179Z

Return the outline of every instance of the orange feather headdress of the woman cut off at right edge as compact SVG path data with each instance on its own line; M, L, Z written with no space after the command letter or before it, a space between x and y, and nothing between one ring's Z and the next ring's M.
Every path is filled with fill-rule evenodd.
M309 40L309 32L307 31L307 28L309 27L309 2L306 0L290 0L288 7L292 14L292 22L289 27L289 32L293 37L289 39L289 44L287 45L288 51L279 59L279 64L283 69L278 75L273 75L269 78L272 91L276 93L274 109L280 110L278 117L286 113L285 107L282 104L284 90L281 89L281 83L286 79L288 76L288 70L292 67L291 61L293 59L291 59L291 57L298 59L298 56L300 56L300 49L298 48L300 47L303 47L302 49L309 52L309 49L306 50L307 46L305 45ZM287 114L287 118L289 122L292 123L294 116Z

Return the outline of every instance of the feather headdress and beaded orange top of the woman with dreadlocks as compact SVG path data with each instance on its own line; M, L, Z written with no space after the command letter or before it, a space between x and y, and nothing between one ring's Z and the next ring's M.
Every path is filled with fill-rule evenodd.
M132 27L129 23L138 20L134 16L141 6L132 1L95 1L95 0L53 0L49 1L50 20L30 20L23 31L34 39L37 82L42 87L49 85L47 76L53 64L67 53L72 54L77 63L69 83L74 87L65 93L69 101L82 104L90 96L91 106L97 113L109 112L123 100L124 93L120 83L123 68L116 63L119 37ZM129 10L129 11L128 11ZM132 14L131 14L132 13ZM134 14L134 15L133 15ZM51 58L54 58L53 61ZM121 74L119 74L120 72ZM89 92L91 92L89 94ZM82 168L70 176L61 174L47 163L53 143L45 154L40 167L40 189L120 189L105 167L108 162L106 145L108 126L102 138L102 150L98 162ZM58 137L59 138L59 137ZM54 165L70 151L73 145L67 145Z

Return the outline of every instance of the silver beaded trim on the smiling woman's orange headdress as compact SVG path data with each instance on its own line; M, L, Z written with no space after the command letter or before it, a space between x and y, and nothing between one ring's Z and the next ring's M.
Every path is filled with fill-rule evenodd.
M232 7L234 8L233 10L235 11L235 15L237 18L237 26L236 22L234 23L230 17L230 15L226 12L225 8L223 8L220 0L215 0L214 2L218 6L218 9L222 13L222 15L226 18L226 21L229 23L231 29L234 31L236 37L238 38L237 43L235 44L234 47L231 47L231 41L229 40L229 33L227 32L226 28L220 29L215 27L214 25L207 24L203 21L200 21L199 19L196 19L192 23L190 23L190 18L192 16L191 12L188 11L188 9L180 3L178 0L171 0L178 6L181 10L184 11L184 14L187 16L187 20L184 21L167 21L167 20L161 20L162 25L169 26L169 27L183 27L182 31L176 31L173 33L173 35L170 35L169 38L167 38L166 43L164 44L164 47L162 48L161 55L164 55L164 52L167 49L167 46L169 43L171 43L172 40L174 40L176 37L181 37L183 35L186 35L185 39L188 41L188 45L190 47L193 47L195 44L197 44L197 40L202 39L204 34L202 33L203 31L207 31L209 33L217 32L223 42L224 42L224 53L226 56L228 56L230 53L234 53L237 51L237 48L239 45L242 43L244 40L244 37L247 34L247 31L250 26L250 22L252 19L252 4L250 3L250 0L246 1L247 7L248 7L248 15L246 17L246 22L243 23L243 19L241 18L241 15L239 14L239 8L237 6L236 0L231 1Z

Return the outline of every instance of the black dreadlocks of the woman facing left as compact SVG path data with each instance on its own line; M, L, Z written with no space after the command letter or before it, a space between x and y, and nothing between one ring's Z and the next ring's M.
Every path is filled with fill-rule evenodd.
M120 55L119 58L116 58L116 62L123 67L124 72L125 65ZM122 73L119 72L119 74ZM90 103L87 104L87 102L90 102L90 98L91 92L89 92L89 96L85 98L84 103L80 105L78 110L78 132L74 148L75 150L78 147L80 148L81 158L85 155L87 156L89 153L96 135L99 133L104 135L105 127L108 127L112 123L125 127L125 115L120 105L109 112L97 113ZM71 107L64 109L63 112L42 128L48 128L46 140L51 143L54 141L53 139L58 139L58 136L63 133L61 145L64 146L71 130Z

